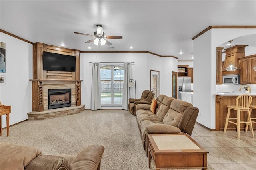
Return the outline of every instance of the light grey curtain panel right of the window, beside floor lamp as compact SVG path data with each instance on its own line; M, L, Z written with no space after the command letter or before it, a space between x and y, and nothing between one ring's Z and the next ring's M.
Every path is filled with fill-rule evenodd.
M130 98L130 88L128 86L130 80L130 69L131 63L124 62L124 85L123 85L123 99L122 99L122 109L128 110L128 99Z

